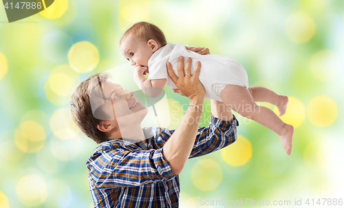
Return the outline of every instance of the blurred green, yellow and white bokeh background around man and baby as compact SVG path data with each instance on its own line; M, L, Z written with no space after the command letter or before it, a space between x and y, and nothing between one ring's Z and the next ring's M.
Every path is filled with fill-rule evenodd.
M250 86L268 87L299 102L298 113L287 111L292 115L288 121L299 122L291 156L269 129L237 116L238 134L250 141L252 156L237 167L226 163L222 152L188 160L180 174L180 207L230 207L201 205L201 198L290 200L286 207L306 207L308 198L314 203L319 198L343 198L344 1L54 3L62 7L56 9L61 17L35 14L14 23L8 23L0 8L0 75L7 69L0 76L1 208L92 207L85 163L96 143L75 129L61 136L61 129L54 128L56 123L72 125L61 112L67 112L73 90L58 96L48 89L48 81L56 67L63 68L75 89L87 77L127 63L118 41L137 21L158 25L170 43L202 46L235 59L246 68ZM69 50L80 41L92 43L99 54L94 70L85 73L74 71L68 60ZM170 101L187 104L186 98L165 90ZM321 101L319 106L314 98L320 98L315 100ZM61 119L54 117L57 114ZM201 125L208 124L209 115L204 112ZM43 129L42 141L18 136L25 132L23 124ZM303 206L294 205L295 198L302 198Z

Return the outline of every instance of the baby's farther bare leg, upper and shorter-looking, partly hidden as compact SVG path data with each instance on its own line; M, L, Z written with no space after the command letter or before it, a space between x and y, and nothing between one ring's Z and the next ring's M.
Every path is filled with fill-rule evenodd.
M255 102L266 102L276 105L279 110L279 116L286 113L288 96L278 95L265 87L248 87Z

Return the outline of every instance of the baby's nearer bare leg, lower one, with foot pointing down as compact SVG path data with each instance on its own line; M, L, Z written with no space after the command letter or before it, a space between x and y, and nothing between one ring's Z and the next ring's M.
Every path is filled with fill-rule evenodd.
M259 106L253 100L250 92L245 87L238 85L226 85L224 90L219 94L222 101L232 110L250 118L257 123L272 129L281 138L283 149L287 154L292 150L292 134L294 127L284 123L279 116L277 116L268 107Z

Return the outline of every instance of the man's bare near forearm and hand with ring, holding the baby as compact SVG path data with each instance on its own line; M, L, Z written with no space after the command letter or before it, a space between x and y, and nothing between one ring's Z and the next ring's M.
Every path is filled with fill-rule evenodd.
M170 63L167 63L167 70L172 81L179 88L178 92L190 98L190 105L182 119L182 123L180 123L178 129L175 129L162 151L164 158L171 166L173 174L180 174L195 143L198 125L202 116L205 91L198 79L200 62L197 62L193 75L191 75L191 59L189 58L186 61L184 72L184 57L182 56L178 60L178 77L175 76Z

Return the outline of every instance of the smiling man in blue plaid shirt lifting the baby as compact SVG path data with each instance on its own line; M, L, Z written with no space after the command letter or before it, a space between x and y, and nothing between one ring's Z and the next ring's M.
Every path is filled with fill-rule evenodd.
M184 72L183 57L178 62L178 77L170 64L167 69L179 88L175 92L190 99L175 130L142 129L147 108L138 103L132 91L107 81L106 74L90 77L72 96L74 121L100 144L87 160L94 207L178 207L178 174L186 160L236 140L237 120L218 101L211 101L211 124L198 127L205 94L198 80L200 63L193 75L191 59L186 61Z

